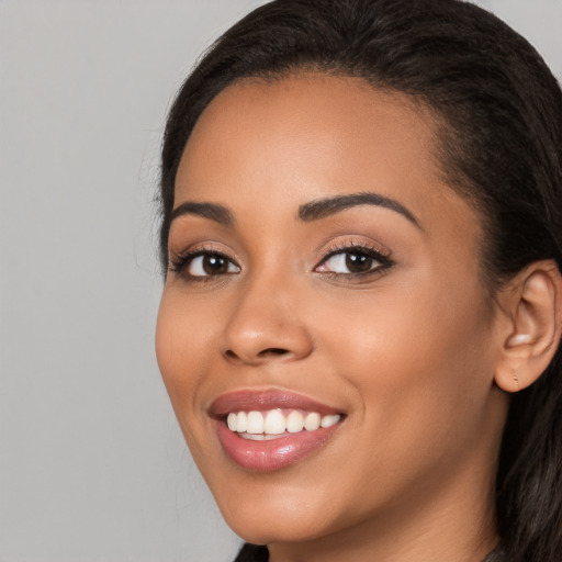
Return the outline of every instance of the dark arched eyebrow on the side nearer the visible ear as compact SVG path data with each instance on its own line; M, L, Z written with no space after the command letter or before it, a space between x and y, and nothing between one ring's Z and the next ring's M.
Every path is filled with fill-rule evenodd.
M405 216L411 223L422 229L422 226L414 213L407 210L402 203L398 203L394 199L386 198L379 193L372 193L370 191L311 201L310 203L305 203L299 207L299 218L306 223L311 221L318 221L358 205L376 205L390 209L391 211L395 211L396 213Z

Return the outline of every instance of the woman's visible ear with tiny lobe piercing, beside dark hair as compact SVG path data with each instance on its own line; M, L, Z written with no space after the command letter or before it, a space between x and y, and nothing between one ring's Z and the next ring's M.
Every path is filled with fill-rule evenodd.
M562 277L553 260L537 261L501 293L507 322L495 382L506 392L517 392L542 374L560 344Z

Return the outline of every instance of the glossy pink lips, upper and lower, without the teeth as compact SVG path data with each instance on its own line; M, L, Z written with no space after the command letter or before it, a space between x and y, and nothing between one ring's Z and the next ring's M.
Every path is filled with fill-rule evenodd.
M226 415L231 412L266 412L269 409L301 409L317 412L321 416L340 414L336 425L315 431L283 434L263 441L244 439L226 426ZM239 467L257 472L271 472L299 462L328 441L341 427L345 413L301 394L288 391L236 391L218 396L209 409L214 418L218 440L227 457Z

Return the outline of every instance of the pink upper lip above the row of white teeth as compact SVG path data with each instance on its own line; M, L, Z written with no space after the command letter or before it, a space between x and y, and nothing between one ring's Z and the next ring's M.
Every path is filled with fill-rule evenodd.
M308 396L279 389L247 389L221 394L211 404L209 412L214 417L222 417L231 412L266 412L276 408L304 409L323 416L342 413Z

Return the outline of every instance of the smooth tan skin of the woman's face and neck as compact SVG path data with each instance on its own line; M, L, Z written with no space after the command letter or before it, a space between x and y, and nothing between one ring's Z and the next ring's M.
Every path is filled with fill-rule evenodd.
M178 216L170 257L203 247L233 266L169 272L158 362L226 521L273 562L476 562L497 542L505 323L482 283L479 217L445 183L435 146L431 117L405 95L302 74L231 86L186 147L175 206L218 203L234 223ZM367 204L297 217L358 192L392 198L417 224ZM393 265L327 271L327 255L357 245ZM289 390L346 417L296 464L248 471L207 413L246 389Z

